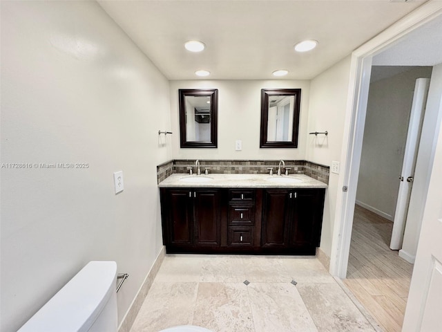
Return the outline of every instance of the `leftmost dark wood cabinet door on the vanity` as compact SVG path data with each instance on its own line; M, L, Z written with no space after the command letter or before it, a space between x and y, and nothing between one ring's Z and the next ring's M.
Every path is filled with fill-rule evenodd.
M166 226L169 230L169 243L193 243L193 205L189 190L166 190Z

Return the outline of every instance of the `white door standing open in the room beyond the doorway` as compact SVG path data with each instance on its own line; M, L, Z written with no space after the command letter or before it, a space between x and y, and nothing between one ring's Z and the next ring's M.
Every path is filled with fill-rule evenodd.
M421 138L422 122L429 86L429 78L418 78L416 80L416 85L414 86L413 103L400 177L401 183L399 185L398 201L396 203L396 212L394 214L392 239L390 241L390 248L392 250L399 250L402 248L403 232L405 230L410 195L412 192L414 168L416 167L417 151L419 140Z

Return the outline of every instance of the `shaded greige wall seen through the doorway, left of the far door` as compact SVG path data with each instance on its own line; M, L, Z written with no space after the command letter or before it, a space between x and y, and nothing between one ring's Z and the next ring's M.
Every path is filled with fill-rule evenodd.
M414 85L417 78L430 77L431 69L410 67L409 71L378 80L369 87L356 202L391 221L396 210Z

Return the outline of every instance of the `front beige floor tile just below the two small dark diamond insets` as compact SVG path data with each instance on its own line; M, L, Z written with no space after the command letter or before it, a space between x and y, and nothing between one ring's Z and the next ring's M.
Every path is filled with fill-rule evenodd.
M287 283L249 284L256 332L317 332L296 286Z

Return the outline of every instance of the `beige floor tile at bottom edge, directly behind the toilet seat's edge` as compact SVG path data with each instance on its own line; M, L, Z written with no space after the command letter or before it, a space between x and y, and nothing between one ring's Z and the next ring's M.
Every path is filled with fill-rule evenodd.
M247 286L200 282L193 324L216 332L254 332Z

